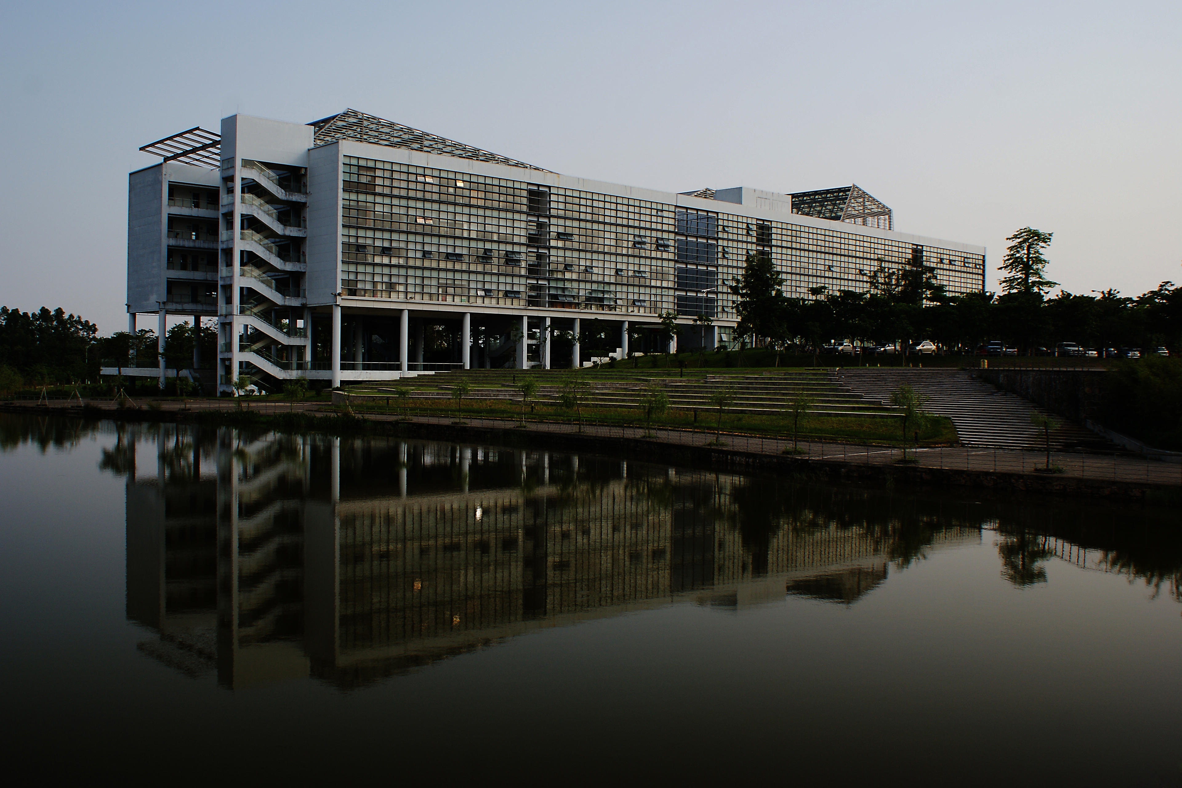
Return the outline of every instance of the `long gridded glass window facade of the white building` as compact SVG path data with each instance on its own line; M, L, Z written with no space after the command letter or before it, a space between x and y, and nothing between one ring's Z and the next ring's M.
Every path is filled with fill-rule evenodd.
M869 291L922 260L950 295L982 288L985 258L843 230L344 157L346 297L734 319L726 285L772 255L786 294Z

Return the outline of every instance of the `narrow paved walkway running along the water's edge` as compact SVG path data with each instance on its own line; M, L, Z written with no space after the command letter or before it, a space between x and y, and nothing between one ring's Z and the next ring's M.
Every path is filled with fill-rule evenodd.
M58 404L58 403L54 403ZM113 410L110 402L87 403L104 410ZM193 410L220 410L233 411L238 409L233 400L193 400L189 403ZM27 405L30 411L37 408ZM162 411L175 411L181 409L178 402L161 403ZM288 411L300 411L309 415L330 416L336 411L325 406L324 403L251 403L248 409L260 413L284 413ZM376 422L392 422L401 418L401 413L362 413L365 418ZM410 418L416 423L426 424L452 424L454 417L447 415L416 413L410 411ZM515 419L506 418L475 418L465 417L465 423L472 426L486 429L506 429L517 424ZM528 430L535 432L573 434L578 431L578 425L566 422L527 421ZM631 438L643 439L645 431L639 426L621 426L615 424L596 424L587 422L583 432L595 437L605 438ZM714 439L712 430L683 430L683 429L654 429L651 438L655 442L670 443L676 445L706 445ZM775 455L791 449L792 441L759 435L738 435L722 432L721 436L726 447L732 451L745 451L752 454ZM801 441L799 444L800 457L808 457L813 461L832 461L846 463L865 464L890 464L895 462L901 451L895 448L859 445L852 443L829 443L820 441ZM956 470L998 471L1012 474L1030 474L1035 476L1034 465L1041 465L1045 452L1031 450L1009 450L996 448L974 447L944 447L933 449L909 449L923 468L948 468ZM1182 486L1182 464L1145 460L1137 455L1129 454L1097 454L1097 452L1069 452L1053 451L1051 454L1052 465L1063 469L1063 476L1076 476L1096 480L1112 480L1132 483L1149 484L1175 484ZM1041 476L1041 474L1038 474Z

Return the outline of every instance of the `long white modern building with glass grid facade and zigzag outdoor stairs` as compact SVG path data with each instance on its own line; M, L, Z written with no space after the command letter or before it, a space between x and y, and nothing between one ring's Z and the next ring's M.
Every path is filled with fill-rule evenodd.
M236 115L144 145L130 175L128 312L216 317L241 375L391 379L730 341L726 285L769 255L788 295L922 267L985 287L985 249L892 229L858 187L670 194L558 175L355 110ZM204 359L206 366L212 366ZM194 359L194 366L201 366ZM161 366L163 383L163 363Z

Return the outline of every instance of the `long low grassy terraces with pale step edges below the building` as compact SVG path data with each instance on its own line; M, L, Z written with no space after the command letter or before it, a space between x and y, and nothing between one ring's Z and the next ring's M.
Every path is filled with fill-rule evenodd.
M472 390L468 399L520 399L521 392L517 384L526 373L514 370L472 370L440 372L417 378L405 388L411 389L416 399L447 398L452 388L462 378L468 380ZM538 384L535 400L557 402L566 384L574 373L551 370L548 372L531 372ZM804 390L813 400L810 412L824 416L870 416L891 415L881 403L868 400L862 395L845 390L834 383L827 370L777 370L754 375L687 375L678 377L676 371L662 373L654 370L644 372L596 372L580 376L589 384L585 389L585 404L600 408L639 408L641 397L649 386L660 386L669 397L671 408L680 410L709 410L710 395L725 388L734 392L734 400L728 405L730 412L742 413L784 413L788 402L797 391ZM398 386L359 385L351 386L358 392L372 392L379 396L392 396Z

